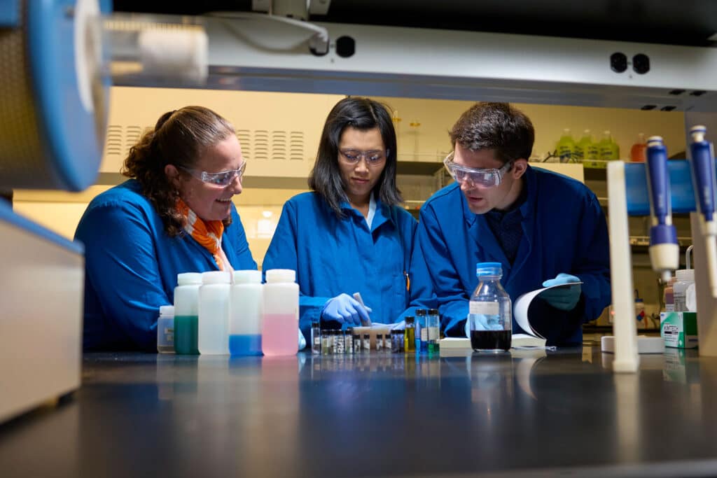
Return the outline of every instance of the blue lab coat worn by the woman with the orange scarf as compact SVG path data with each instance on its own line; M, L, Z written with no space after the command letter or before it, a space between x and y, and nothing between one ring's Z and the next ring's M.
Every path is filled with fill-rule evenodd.
M219 270L189 235L169 237L130 179L92 199L75 231L85 244L85 350L156 351L161 305L174 303L177 274ZM234 269L256 269L232 205L222 249Z

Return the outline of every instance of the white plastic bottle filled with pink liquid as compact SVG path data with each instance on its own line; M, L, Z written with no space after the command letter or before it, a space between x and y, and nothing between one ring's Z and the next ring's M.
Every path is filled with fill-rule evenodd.
M299 350L299 285L291 269L269 269L264 285L264 355L295 355Z

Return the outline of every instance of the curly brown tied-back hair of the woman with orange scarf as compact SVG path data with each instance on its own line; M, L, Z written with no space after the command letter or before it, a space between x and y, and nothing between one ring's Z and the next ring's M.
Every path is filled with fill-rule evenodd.
M161 115L154 128L130 148L120 172L140 183L170 237L184 234L184 216L176 208L179 191L164 167L173 164L181 178L189 180L184 168L194 168L206 148L234 134L232 124L209 108L185 106ZM232 216L224 219L224 226L231 223Z

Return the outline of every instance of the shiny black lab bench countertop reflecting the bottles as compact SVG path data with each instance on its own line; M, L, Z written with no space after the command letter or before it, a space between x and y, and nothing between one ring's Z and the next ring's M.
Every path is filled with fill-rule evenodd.
M612 360L85 354L78 391L0 425L0 476L717 475L717 358Z

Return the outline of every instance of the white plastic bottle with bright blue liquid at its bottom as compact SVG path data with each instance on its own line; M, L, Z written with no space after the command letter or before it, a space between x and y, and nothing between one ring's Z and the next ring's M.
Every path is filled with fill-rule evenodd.
M262 355L262 273L234 271L229 293L229 353Z

